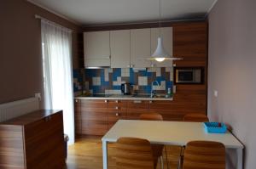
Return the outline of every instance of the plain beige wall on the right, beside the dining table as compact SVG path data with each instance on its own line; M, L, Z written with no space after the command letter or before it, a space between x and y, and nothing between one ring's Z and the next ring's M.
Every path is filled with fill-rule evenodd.
M256 168L255 7L255 0L219 0L209 15L208 114L245 144L246 169Z

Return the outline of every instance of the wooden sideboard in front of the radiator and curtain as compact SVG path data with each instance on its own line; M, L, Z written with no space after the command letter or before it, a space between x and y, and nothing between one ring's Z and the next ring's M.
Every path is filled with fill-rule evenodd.
M0 123L0 168L55 169L65 165L60 110L37 110Z

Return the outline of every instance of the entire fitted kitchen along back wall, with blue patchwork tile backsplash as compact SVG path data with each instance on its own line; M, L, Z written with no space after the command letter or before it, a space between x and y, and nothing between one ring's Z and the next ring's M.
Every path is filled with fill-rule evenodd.
M131 29L128 31L89 31L84 33L85 70L82 70L82 72L76 70L74 74L78 77L77 79L75 78L75 81L78 81L78 79L80 79L80 81L84 79L85 81L80 82L80 84L84 84L84 87L77 87L84 88L85 97L78 96L75 100L75 108L77 110L82 110L84 107L84 113L79 112L78 117L75 117L75 119L78 120L75 122L76 124L81 124L82 121L82 127L79 127L78 134L97 133L93 128L98 127L97 124L99 121L103 121L102 115L102 118L94 122L89 122L90 120L88 120L92 125L91 131L84 131L85 128L89 130L88 128L90 127L83 127L83 123L86 123L86 118L79 116L86 115L85 109L89 109L90 115L94 116L94 107L96 107L96 109L108 107L103 104L104 102L110 102L108 103L108 105L111 104L110 109L117 109L112 110L113 115L115 115L114 112L117 112L118 118L116 118L116 121L119 118L138 119L139 115L144 112L160 112L166 121L182 121L183 115L189 113L196 112L204 115L207 113L207 74L203 73L203 71L207 71L207 22L177 23L172 27L161 28L162 37L166 42L164 42L164 44L172 44L166 46L165 49L170 54L172 54L173 50L173 55L175 56L183 56L183 59L175 60L173 63L172 60L166 60L160 63L150 60L147 62L150 49L154 52L156 46L158 37L157 29L159 28ZM99 38L101 36L104 37L103 34L105 34L105 37L108 37L108 39L100 41ZM183 38L183 35L186 35L186 38ZM96 38L93 39L93 37ZM124 37L126 37L126 39ZM94 40L104 43L99 44L99 42L94 42ZM97 50L94 51L90 50L90 48L96 48L93 47L93 44L104 48L104 45L109 46L108 42L110 42L110 51L105 55L111 54L111 59L104 59L102 62L100 61L101 59L95 59L95 63L93 59L86 61L86 57L93 58L90 57L90 54L93 55L93 52L99 53L94 54L95 56L101 56L100 54L102 54L103 49L101 50L101 48L97 48ZM129 44L133 43L136 44L136 48L132 48L132 45L130 47ZM194 45L195 43L196 46ZM115 44L118 46L115 47ZM139 47L139 44L143 44L144 47ZM182 46L182 48L180 46ZM123 54L125 57L116 61L116 58ZM102 58L103 56L102 54ZM139 56L145 56L146 58L141 59ZM127 63L125 63L125 58ZM119 60L122 61L120 62ZM106 63L108 63L108 65L106 65ZM151 67L151 65L156 64L158 65L157 67ZM134 68L127 68L127 65L133 65ZM175 73L172 65L175 65ZM91 67L101 66L110 66L111 68L90 69ZM190 77L190 82L179 82L178 79L173 81L176 74L179 73L179 76L183 75L183 69L190 69L191 72L193 70L200 70L200 81L193 82L193 77ZM121 93L122 85L128 85L129 90L132 90L133 94L131 94L131 92L125 94ZM131 89L131 85L133 89ZM81 92L81 90L78 90L76 93L81 95ZM94 97L90 97L90 93L93 93ZM86 94L89 97L86 97ZM106 94L106 96L99 97L102 94ZM93 102L93 100L95 101ZM120 101L122 101L121 107L119 107ZM117 104L114 104L114 102ZM103 107L100 106L101 104ZM183 109L183 107L187 107L188 109ZM99 111L95 111L95 116L97 116ZM102 110L102 114L104 114L104 111L106 110ZM125 113L126 117L123 116ZM79 120L79 118L82 120ZM100 127L102 130L99 131L101 134L104 134L112 127L112 125L108 125L108 118L109 116L106 115L105 125L103 125L102 122L102 126ZM110 123L113 123L113 121ZM94 124L95 127L93 127ZM103 128L105 128L105 130L103 130Z

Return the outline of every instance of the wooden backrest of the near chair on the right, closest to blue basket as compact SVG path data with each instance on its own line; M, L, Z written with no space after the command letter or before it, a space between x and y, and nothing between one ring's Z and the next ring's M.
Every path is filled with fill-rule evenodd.
M225 169L224 144L192 141L184 152L183 169Z

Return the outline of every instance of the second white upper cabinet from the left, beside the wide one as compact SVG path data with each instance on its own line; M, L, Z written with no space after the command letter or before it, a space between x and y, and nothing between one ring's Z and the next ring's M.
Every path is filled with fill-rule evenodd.
M110 31L111 67L130 67L130 30Z

